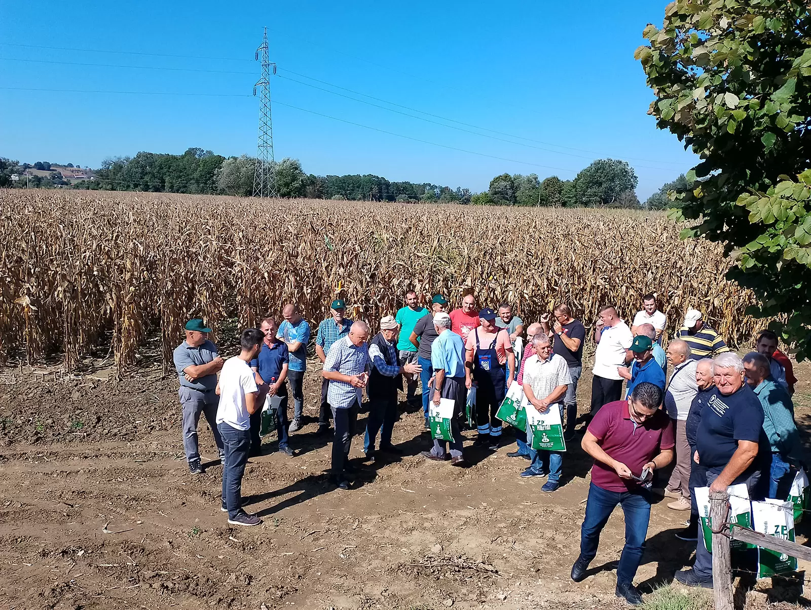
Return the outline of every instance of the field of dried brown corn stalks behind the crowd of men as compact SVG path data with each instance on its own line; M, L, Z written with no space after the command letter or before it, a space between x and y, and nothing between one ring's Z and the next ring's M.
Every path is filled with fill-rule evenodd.
M68 369L109 343L126 370L157 333L168 365L187 318L216 333L286 301L317 322L341 296L375 326L406 288L453 305L472 290L525 320L565 301L587 326L654 291L669 331L688 307L732 343L762 325L720 246L680 241L660 213L42 190L0 192L0 210L0 354Z

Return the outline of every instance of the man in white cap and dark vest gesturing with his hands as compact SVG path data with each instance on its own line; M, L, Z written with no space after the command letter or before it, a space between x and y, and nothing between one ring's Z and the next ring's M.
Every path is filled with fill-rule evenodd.
M402 390L402 374L419 373L422 368L412 362L400 365L397 357L397 329L394 316L380 320L380 332L369 341L369 382L366 386L369 396L369 417L366 437L363 439L363 453L367 459L375 461L375 437L380 431L380 451L400 454L392 445L392 430L397 421L397 389ZM382 429L381 429L382 428Z

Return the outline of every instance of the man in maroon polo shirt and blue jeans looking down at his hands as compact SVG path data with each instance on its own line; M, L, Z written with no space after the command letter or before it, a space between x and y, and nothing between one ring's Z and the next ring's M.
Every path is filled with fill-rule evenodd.
M638 383L627 400L608 403L591 420L581 443L594 458L586 518L580 537L580 557L572 567L572 580L586 578L586 568L597 554L600 531L616 505L625 517L625 546L616 569L616 596L629 604L642 604L633 586L650 521L650 480L656 468L672 462L676 446L673 424L659 409L662 389Z

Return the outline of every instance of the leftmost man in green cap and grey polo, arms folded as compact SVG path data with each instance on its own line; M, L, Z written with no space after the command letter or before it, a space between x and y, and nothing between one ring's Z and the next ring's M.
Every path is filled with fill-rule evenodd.
M223 456L222 438L217 430L217 373L223 360L217 346L208 340L211 329L195 318L186 324L186 340L174 349L174 367L178 370L178 396L183 408L183 449L192 474L203 472L197 424L203 413L214 434L217 452Z

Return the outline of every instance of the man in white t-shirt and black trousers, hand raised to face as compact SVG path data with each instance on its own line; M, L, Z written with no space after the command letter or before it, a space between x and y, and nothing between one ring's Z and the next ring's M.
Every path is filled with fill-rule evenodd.
M594 325L594 377L591 379L591 412L594 417L604 404L613 403L622 395L622 377L619 367L633 358L629 352L633 334L628 325L616 314L613 305L599 309L599 319Z

